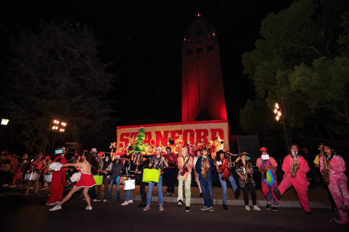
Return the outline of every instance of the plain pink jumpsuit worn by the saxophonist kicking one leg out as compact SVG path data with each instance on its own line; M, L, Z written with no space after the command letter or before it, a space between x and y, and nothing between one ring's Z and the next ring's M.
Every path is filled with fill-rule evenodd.
M299 158L297 158L297 160L299 161L299 169L297 170L296 178L292 178L292 174L289 171L292 168L292 155L289 154L284 158L284 161L282 163L282 170L285 172L285 174L283 175L281 184L277 188L282 195L285 190L293 185L297 192L300 205L303 207L304 211L311 212L311 209L309 208L309 199L307 193L309 181L307 181L305 175L310 170L310 168L308 166L308 163L302 156L299 155Z

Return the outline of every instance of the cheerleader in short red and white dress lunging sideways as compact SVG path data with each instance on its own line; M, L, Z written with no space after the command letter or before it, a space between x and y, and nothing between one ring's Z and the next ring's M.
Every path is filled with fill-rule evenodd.
M67 200L69 200L73 193L83 188L82 192L84 194L85 200L87 202L87 207L85 209L91 210L91 200L90 196L88 195L88 190L90 187L96 185L95 179L93 178L91 174L91 168L97 168L98 169L98 163L96 159L88 152L84 153L80 159L79 163L67 163L62 165L62 167L79 167L79 171L81 173L80 180L76 182L74 185L74 188L70 190L70 192L65 196L65 198L62 199L61 202L59 202L57 205L55 205L52 209L49 209L50 211L61 209L61 205L63 205ZM80 169L81 168L81 169Z

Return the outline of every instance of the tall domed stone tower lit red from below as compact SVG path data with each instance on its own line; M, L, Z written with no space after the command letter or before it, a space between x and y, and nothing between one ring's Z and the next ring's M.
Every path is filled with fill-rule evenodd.
M182 122L227 119L218 39L196 15L182 42Z

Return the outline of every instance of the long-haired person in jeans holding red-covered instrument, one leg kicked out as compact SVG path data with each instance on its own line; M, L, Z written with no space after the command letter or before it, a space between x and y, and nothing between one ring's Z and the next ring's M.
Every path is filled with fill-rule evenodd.
M233 190L235 192L235 199L240 196L240 189L236 186L234 177L230 172L231 166L228 161L228 155L224 154L222 150L216 152L216 171L219 176L219 181L222 186L223 194L223 209L228 209L227 206L227 181L229 180Z

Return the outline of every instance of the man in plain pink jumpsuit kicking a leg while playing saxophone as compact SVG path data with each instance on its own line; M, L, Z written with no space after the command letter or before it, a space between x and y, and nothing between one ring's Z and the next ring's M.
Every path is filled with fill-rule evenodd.
M278 187L274 187L273 192L277 198L281 198L281 195L287 190L291 185L295 187L297 192L299 203L305 211L305 215L311 215L311 209L309 208L308 199L308 185L305 174L310 170L306 160L298 154L299 146L293 144L290 148L291 154L288 154L282 163L282 170L285 172L281 184ZM295 166L293 167L293 159L296 156ZM292 173L297 170L296 177L292 178Z

